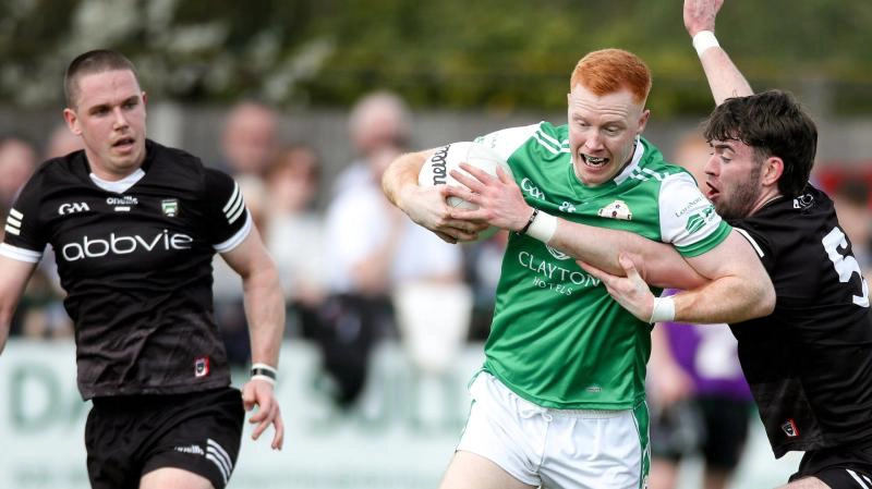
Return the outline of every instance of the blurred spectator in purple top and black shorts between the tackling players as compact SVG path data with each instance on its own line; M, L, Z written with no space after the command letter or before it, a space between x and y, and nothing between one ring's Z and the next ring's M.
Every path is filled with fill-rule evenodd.
M699 134L686 136L674 161L705 182L711 148ZM671 294L674 291L665 291ZM754 412L727 325L657 323L649 363L651 489L677 486L679 463L702 454L704 489L723 489L744 449Z

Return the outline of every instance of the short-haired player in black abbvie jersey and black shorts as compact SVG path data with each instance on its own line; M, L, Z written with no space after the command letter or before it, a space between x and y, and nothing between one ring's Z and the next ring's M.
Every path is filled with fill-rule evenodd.
M239 186L196 157L145 136L134 66L107 50L64 76L64 119L85 149L46 161L5 221L0 349L47 244L75 322L78 388L94 488L222 488L244 409L253 438L283 426L272 393L284 305ZM230 388L213 319L211 258L240 273L253 377Z

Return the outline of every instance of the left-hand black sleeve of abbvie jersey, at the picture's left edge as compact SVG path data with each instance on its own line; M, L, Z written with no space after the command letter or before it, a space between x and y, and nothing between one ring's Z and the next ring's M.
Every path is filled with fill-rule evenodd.
M37 173L24 185L9 210L3 228L4 255L22 261L39 261L48 242L46 227L41 222L41 174Z

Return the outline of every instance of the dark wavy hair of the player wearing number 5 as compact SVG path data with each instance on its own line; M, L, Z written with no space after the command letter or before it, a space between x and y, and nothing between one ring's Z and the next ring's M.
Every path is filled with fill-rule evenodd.
M766 90L748 97L728 98L715 108L703 135L712 140L740 140L758 157L776 156L784 161L778 191L796 197L809 182L818 151L818 127L792 95Z

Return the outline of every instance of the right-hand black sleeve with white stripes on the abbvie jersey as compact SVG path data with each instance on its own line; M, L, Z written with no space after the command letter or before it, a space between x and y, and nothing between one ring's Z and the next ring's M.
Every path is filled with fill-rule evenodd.
M213 224L208 239L218 253L233 249L251 232L252 218L242 188L228 174L214 169L206 169L206 212Z

